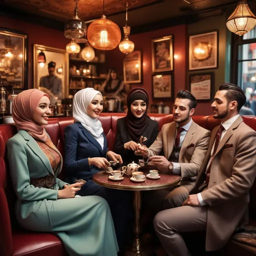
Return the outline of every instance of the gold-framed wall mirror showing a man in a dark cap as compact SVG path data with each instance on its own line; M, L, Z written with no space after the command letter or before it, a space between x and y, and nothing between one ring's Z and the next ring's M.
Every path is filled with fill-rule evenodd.
M50 103L68 97L68 54L63 49L34 44L33 82L50 96Z

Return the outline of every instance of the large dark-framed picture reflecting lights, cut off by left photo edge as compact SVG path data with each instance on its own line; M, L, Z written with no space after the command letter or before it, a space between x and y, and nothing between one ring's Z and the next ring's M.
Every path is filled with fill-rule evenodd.
M0 27L0 79L4 85L26 89L27 34Z

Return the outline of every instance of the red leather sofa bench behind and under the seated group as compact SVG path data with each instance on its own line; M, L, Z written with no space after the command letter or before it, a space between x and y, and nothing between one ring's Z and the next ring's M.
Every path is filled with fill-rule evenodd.
M114 147L117 119L123 117L122 113L102 113L100 121L107 138L109 149ZM149 114L158 121L159 130L164 123L172 121L172 114ZM256 116L243 116L244 122L256 130ZM219 120L212 116L193 116L193 120L202 127L212 130L219 124ZM46 128L53 143L61 152L64 159L64 127L73 123L72 117L49 119ZM14 216L14 202L16 196L12 189L5 145L7 140L16 133L13 124L0 125L0 255L1 256L44 256L66 255L63 244L57 236L51 233L26 231L19 227ZM256 156L255 156L256 157ZM17 170L18 171L18 170ZM64 170L60 178L64 175ZM250 223L256 226L256 183L250 190L249 203ZM244 245L230 240L221 250L221 255L256 255L256 247Z

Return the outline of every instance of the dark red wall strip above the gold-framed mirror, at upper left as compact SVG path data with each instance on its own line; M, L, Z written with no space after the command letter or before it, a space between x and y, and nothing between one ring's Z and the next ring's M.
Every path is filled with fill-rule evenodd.
M4 16L0 16L0 26L22 31L28 35L28 88L33 87L33 44L65 49L66 44L70 41L64 36L64 27L63 31L59 31Z

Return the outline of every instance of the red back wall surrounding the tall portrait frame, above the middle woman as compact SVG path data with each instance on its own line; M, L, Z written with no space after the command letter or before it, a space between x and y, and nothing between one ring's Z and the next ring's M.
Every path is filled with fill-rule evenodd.
M132 27L131 27L132 30ZM173 53L177 55L174 59L174 95L179 89L184 89L186 84L186 25L178 25L155 31L145 32L130 35L129 39L134 42L134 50L140 50L142 53L142 83L132 84L131 87L141 86L145 88L149 94L149 106L150 104L157 103L158 99L152 99L152 49L151 39L173 35L174 47ZM124 54L120 52L118 46L113 49L106 51L106 65L108 67L114 67L119 74L123 74L122 60ZM172 101L169 99L163 100L164 104L172 107Z

